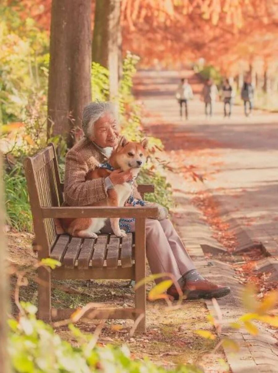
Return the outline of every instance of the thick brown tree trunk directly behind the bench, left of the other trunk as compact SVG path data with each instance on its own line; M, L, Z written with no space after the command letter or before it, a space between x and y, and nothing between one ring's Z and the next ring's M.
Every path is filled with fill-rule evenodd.
M91 100L91 1L53 0L50 29L47 135L62 135L68 147Z

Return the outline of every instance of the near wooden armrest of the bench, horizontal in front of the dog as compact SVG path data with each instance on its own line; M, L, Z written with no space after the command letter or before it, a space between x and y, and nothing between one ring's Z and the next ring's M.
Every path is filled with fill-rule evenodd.
M44 218L150 217L157 219L157 207L41 207Z

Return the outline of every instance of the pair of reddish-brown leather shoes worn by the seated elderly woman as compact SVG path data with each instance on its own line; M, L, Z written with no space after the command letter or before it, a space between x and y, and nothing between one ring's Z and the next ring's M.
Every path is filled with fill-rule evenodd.
M186 281L182 287L185 299L211 299L222 298L231 292L229 286L216 285L208 280ZM171 295L175 300L179 299L179 294L174 285L170 286L167 294Z

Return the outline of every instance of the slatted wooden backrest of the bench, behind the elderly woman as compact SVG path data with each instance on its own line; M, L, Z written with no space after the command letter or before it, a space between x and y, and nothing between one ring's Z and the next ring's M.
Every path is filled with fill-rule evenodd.
M55 222L54 219L42 218L41 207L59 207L63 203L54 145L50 144L34 157L27 157L24 166L36 241L44 248L44 251L48 247L49 253L50 247L56 239Z

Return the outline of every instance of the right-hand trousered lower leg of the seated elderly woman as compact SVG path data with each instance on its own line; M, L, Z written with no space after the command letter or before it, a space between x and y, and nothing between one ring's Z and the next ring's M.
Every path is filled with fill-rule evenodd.
M186 272L195 269L196 267L186 251L182 240L177 234L176 229L174 229L172 222L169 219L164 219L160 221L160 225L164 231L167 241L169 242L180 273L184 275Z

